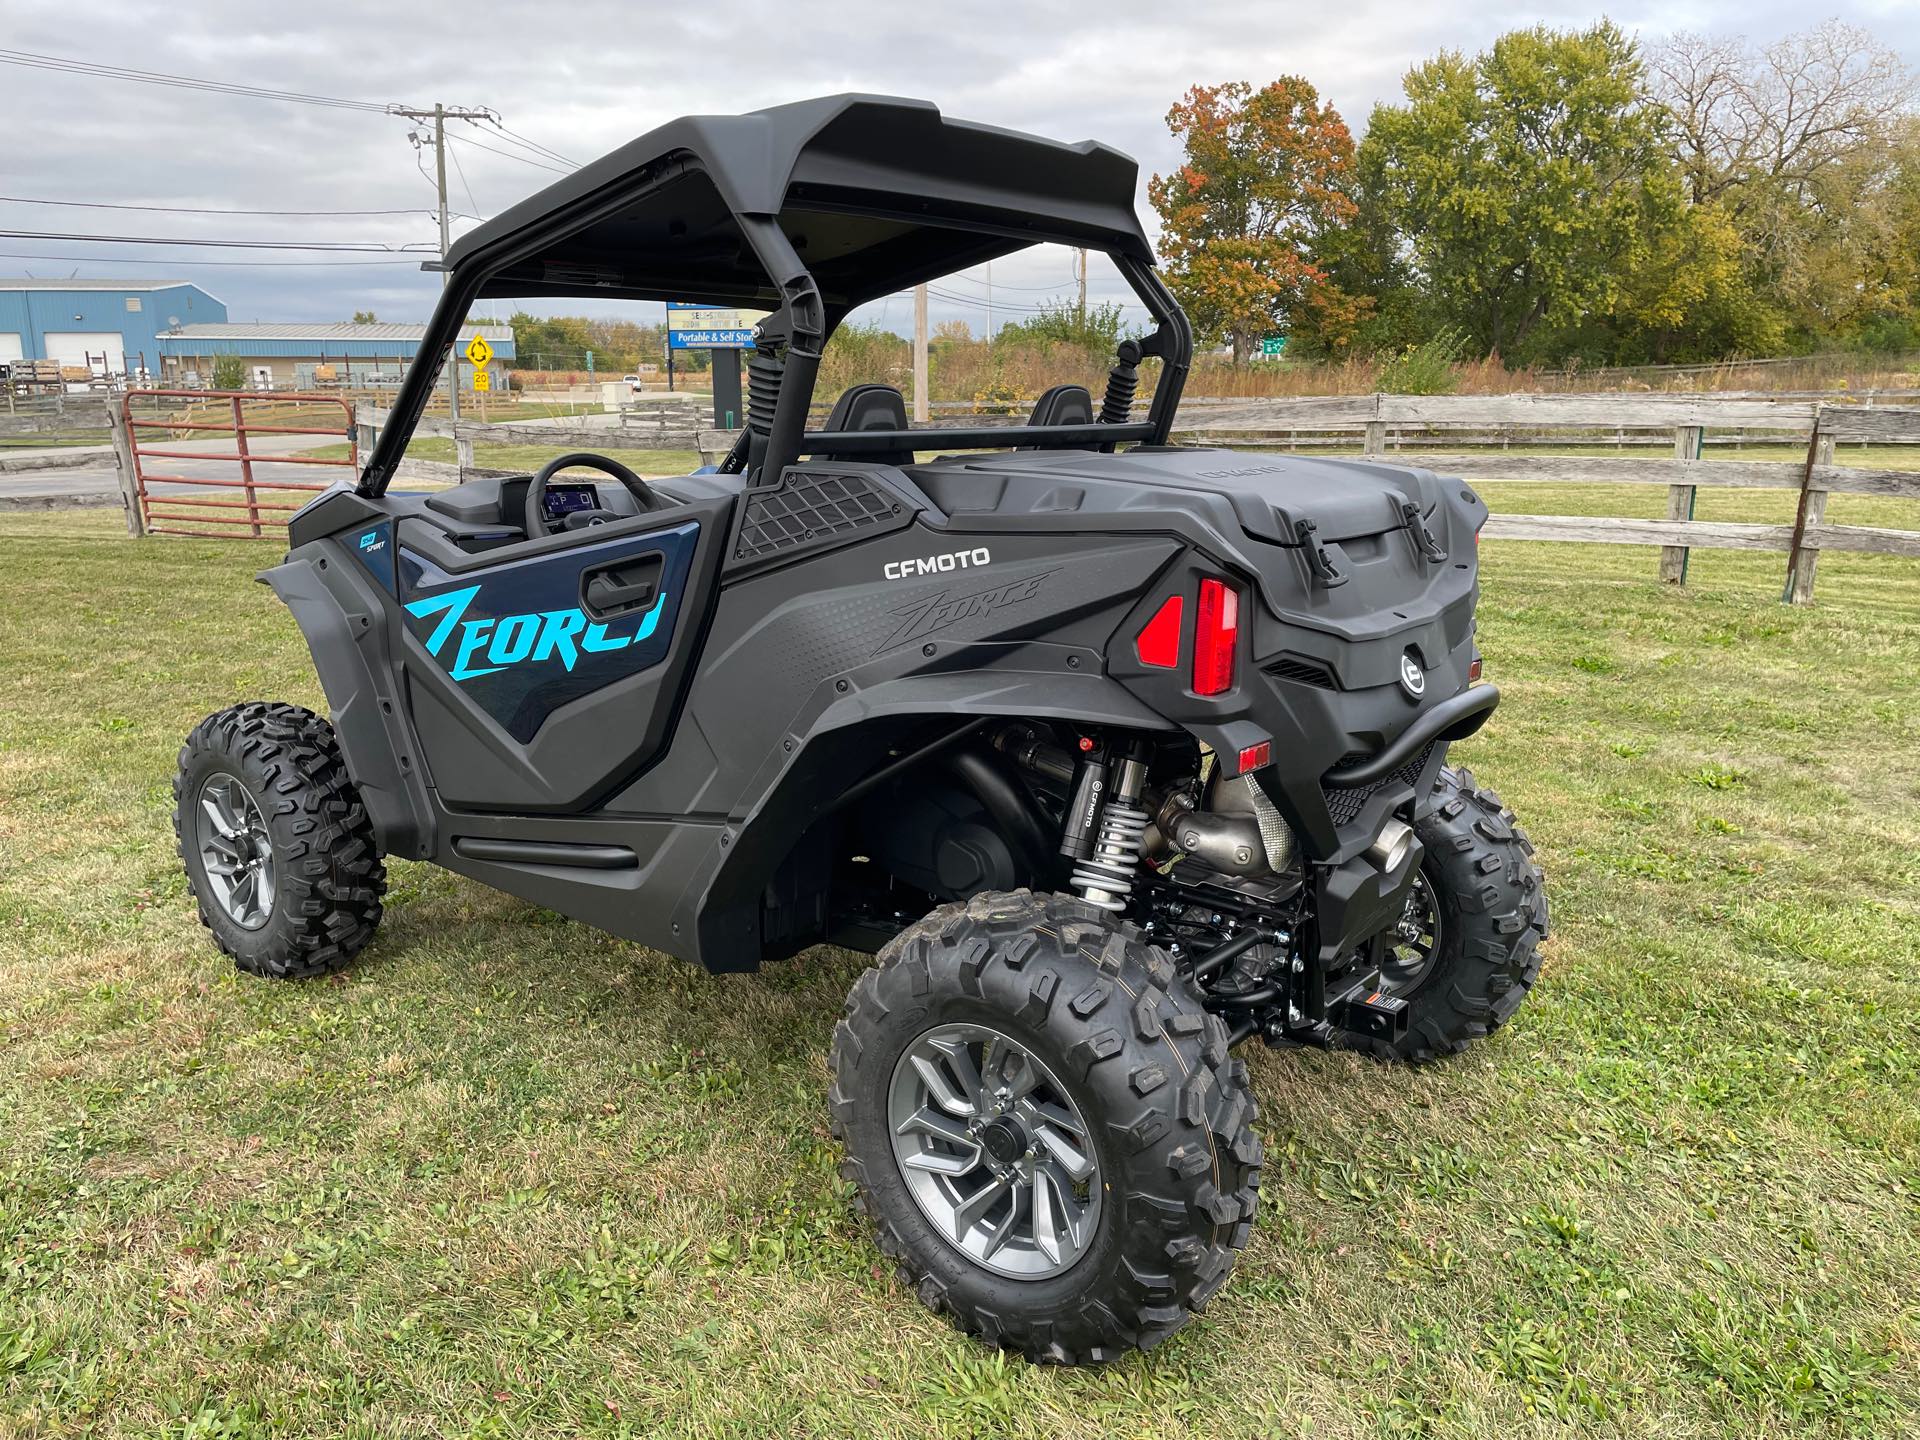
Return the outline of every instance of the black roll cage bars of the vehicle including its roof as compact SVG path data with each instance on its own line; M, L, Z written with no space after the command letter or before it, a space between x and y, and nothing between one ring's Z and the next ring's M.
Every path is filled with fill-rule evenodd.
M831 96L747 115L691 115L628 142L467 234L447 253L420 355L449 353L486 298L695 300L770 311L756 334L749 486L801 455L912 449L927 430L808 430L828 338L868 300L1043 242L1098 250L1154 317L1162 363L1142 420L939 428L941 449L1165 444L1192 332L1154 273L1133 209L1139 167L945 119L922 100ZM413 365L359 493L380 495L434 388ZM772 399L770 415L756 413ZM745 438L743 438L745 440Z

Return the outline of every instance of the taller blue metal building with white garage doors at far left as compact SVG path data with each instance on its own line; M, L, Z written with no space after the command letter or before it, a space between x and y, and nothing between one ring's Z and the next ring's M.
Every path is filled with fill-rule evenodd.
M0 278L0 365L157 376L161 330L225 319L227 305L188 280Z

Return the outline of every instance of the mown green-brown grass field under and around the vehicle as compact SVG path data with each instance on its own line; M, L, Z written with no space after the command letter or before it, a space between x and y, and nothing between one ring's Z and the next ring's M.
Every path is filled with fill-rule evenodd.
M1496 509L1665 495L1486 486ZM1770 518L1789 495L1715 495ZM1836 497L1836 520L1920 524ZM1920 566L1488 541L1540 845L1513 1025L1250 1050L1261 1217L1146 1357L1029 1367L849 1219L858 956L708 979L426 866L330 983L240 977L175 749L319 703L271 545L0 515L0 1434L1899 1436L1920 1415Z

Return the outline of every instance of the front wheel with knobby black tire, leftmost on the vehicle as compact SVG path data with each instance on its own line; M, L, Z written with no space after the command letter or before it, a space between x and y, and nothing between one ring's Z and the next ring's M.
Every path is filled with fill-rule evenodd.
M250 701L194 726L173 780L173 833L200 924L252 975L340 970L380 924L386 866L334 728L313 710ZM209 843L221 870L234 864L228 851L257 860L244 916L227 899L234 881L209 876Z

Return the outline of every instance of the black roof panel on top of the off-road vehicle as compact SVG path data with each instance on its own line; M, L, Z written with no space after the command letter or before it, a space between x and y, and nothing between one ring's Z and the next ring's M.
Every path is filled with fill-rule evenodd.
M826 96L670 121L470 230L447 259L492 271L482 296L772 309L735 217L778 217L845 313L1041 240L1152 263L1137 175L1092 140L952 121L925 100Z

